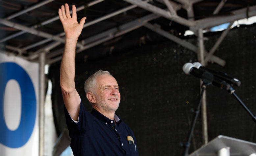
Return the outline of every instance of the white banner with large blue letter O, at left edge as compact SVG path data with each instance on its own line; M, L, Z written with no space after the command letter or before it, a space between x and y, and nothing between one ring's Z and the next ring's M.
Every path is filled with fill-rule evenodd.
M39 64L0 53L0 155L38 155Z

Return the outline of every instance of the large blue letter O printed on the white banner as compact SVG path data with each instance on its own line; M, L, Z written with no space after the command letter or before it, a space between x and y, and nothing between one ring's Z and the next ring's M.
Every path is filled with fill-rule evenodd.
M22 147L29 140L35 126L35 89L27 72L16 63L0 63L0 73L0 143L12 148ZM16 130L10 130L6 126L3 110L6 84L11 79L18 82L21 90L21 118Z

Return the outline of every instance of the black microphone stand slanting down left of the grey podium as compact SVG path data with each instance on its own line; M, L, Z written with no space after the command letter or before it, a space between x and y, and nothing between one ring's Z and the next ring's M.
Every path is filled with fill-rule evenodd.
M198 103L198 106L197 106L196 110L194 111L193 120L192 120L192 123L191 123L191 128L190 128L190 131L189 131L188 140L187 140L186 144L184 145L185 149L184 149L183 156L187 156L188 152L189 152L190 141L191 141L191 137L192 137L192 134L193 134L194 127L195 127L195 122L196 122L197 116L200 112L201 101L202 101L204 91L206 90L207 85L212 84L213 80L202 79L202 81L203 81L203 84L201 86L202 91L201 91L201 94L200 94L200 100L199 100L199 103Z

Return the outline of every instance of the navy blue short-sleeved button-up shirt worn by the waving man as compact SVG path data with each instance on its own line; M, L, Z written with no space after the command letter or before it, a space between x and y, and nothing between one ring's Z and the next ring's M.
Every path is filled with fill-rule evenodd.
M89 113L85 110L82 101L78 123L71 119L66 108L65 116L74 156L139 155L133 131L121 120L115 125L114 120L110 120L95 109ZM129 144L128 135L133 137L134 144Z

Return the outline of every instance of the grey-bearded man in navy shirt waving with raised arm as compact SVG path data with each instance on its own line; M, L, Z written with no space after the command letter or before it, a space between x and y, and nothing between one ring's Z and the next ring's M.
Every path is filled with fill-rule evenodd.
M60 83L73 154L138 155L132 130L115 114L120 102L115 78L108 71L99 70L86 80L84 88L91 113L85 110L75 89L75 49L86 17L78 23L74 5L72 11L71 17L67 4L59 9L65 31Z

